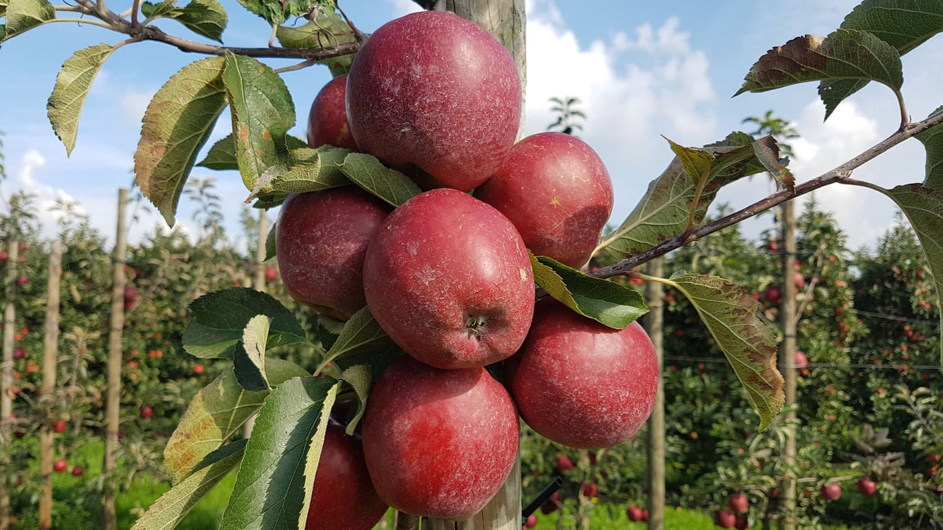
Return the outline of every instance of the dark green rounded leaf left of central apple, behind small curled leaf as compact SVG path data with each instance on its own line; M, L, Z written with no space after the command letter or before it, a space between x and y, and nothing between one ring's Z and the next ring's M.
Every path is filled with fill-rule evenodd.
M256 315L272 319L266 348L305 342L305 330L285 306L264 292L237 287L204 294L190 303L183 347L191 356L232 356L243 330Z

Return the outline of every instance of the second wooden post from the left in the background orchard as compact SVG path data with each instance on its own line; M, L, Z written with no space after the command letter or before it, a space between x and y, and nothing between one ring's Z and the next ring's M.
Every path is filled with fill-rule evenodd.
M59 282L62 277L62 245L53 241L49 252L49 278L46 283L46 322L42 337L42 394L46 418L56 401L56 371L58 368L58 312ZM45 422L40 429L40 530L53 526L53 427Z

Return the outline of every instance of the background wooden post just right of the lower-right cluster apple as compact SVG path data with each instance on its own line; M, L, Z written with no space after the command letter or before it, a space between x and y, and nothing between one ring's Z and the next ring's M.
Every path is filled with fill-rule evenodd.
M648 273L659 277L665 274L662 257L649 262ZM664 373L665 289L658 282L648 282L646 294L650 310L645 318L645 327L658 356L658 373ZM662 530L665 527L665 385L661 377L658 377L658 391L649 418L648 453L648 527L649 530Z

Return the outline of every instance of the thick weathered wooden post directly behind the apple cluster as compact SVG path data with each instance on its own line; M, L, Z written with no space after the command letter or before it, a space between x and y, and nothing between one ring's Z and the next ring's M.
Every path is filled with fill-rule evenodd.
M527 79L524 49L526 29L524 0L444 0L444 5L445 10L452 11L479 25L504 44L518 66L522 94ZM523 112L521 112L519 136L522 130ZM505 486L471 519L463 522L437 520L423 520L422 522L423 528L448 528L450 530L521 530L521 526L520 452Z

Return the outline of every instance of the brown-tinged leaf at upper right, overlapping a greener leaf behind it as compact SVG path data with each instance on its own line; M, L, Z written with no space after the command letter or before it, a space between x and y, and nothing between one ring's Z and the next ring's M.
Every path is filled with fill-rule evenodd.
M796 37L759 58L734 95L834 79L878 81L900 92L901 55L894 46L856 29L838 29L825 38Z

